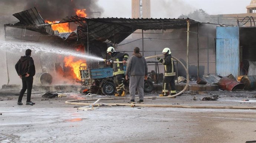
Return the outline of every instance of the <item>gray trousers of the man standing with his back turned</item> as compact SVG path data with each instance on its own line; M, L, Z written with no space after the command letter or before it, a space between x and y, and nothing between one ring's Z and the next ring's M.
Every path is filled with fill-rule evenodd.
M129 80L130 99L135 99L135 90L137 88L140 100L144 100L144 75L131 75Z

